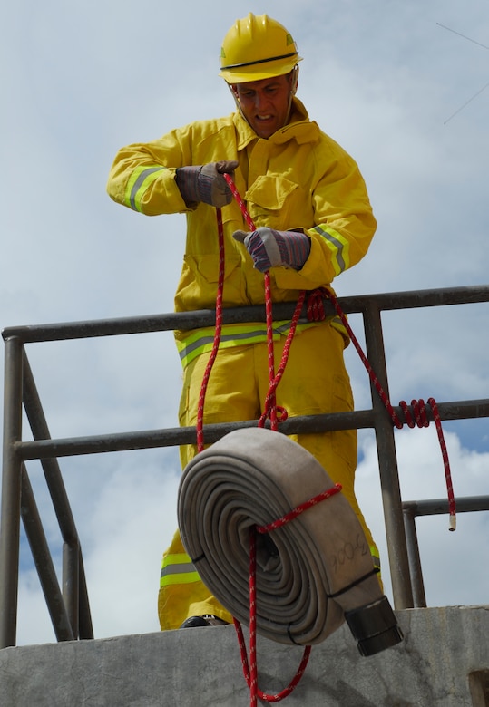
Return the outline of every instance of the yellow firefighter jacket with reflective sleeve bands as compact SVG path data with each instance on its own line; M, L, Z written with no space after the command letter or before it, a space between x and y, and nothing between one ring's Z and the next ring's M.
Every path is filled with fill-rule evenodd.
M212 308L219 275L216 209L207 204L187 208L175 181L176 169L218 160L239 161L234 181L257 228L300 229L311 239L310 254L301 270L270 269L274 302L295 301L299 290L330 286L335 276L367 253L376 220L364 179L347 152L309 120L297 98L289 124L268 140L260 139L239 111L192 122L160 140L122 148L107 185L112 199L148 216L186 212L187 241L176 311ZM244 245L232 238L237 229L248 230L235 199L222 208L222 220L223 306L262 304L263 275L254 269ZM205 344L204 348L200 345L202 331L176 333L183 363L188 363L185 343L189 337L193 336L195 354L205 350ZM256 327L253 331L257 334ZM262 340L264 334L248 339L243 332L243 327L225 327L221 345L245 343L243 337ZM212 333L207 334L211 337Z

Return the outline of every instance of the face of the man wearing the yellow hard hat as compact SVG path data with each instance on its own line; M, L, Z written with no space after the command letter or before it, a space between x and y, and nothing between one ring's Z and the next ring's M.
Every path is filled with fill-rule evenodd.
M232 91L249 125L260 138L269 138L289 119L292 76L237 83Z

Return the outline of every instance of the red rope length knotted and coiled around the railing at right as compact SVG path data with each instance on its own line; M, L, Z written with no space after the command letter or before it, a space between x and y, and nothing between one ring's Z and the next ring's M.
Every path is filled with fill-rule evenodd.
M353 333L350 325L348 324L347 316L344 314L343 310L341 309L337 298L335 295L333 295L331 292L324 288L319 288L318 290L315 290L311 295L308 297L308 318L314 319L316 321L320 321L321 319L325 318L325 312L324 312L324 305L323 305L323 297L328 297L328 299L331 301L332 305L334 306L337 315L341 319L341 322L347 329L348 336L350 337L353 345L357 349L357 353L360 356L360 359L364 363L368 375L370 377L370 380L372 381L379 397L380 400L384 403L386 407L386 411L389 413L391 420L393 421L394 425L396 425L396 428L398 430L402 430L404 427L403 421L399 418L397 415L396 411L394 410L393 406L391 405L385 390L383 389L382 385L377 379L377 375L374 373L374 370L372 369L372 366L368 362L367 356L365 353L362 351L362 348L360 344L358 343L357 337ZM442 429L442 423L440 420L440 415L438 412L438 407L436 405L435 399L434 398L428 398L428 405L431 408L431 412L433 413L433 419L435 421L435 427L436 427L436 433L438 435L438 442L440 444L440 449L442 451L442 457L444 461L444 468L445 468L445 484L446 484L446 492L447 492L447 497L448 497L448 511L450 514L450 530L455 530L456 528L456 508L455 508L455 495L454 495L454 487L452 484L452 472L450 470L450 461L448 459L448 451L446 450L446 444L445 444L445 436L443 433ZM413 400L411 401L411 407L414 412L414 418L413 415L411 414L411 411L409 410L409 407L405 401L399 402L399 406L401 410L404 412L405 419L406 419L406 424L408 427L413 428L417 425L417 427L428 427L429 426L429 420L427 417L427 411L426 411L426 406L425 406L425 401L420 398L418 401Z

